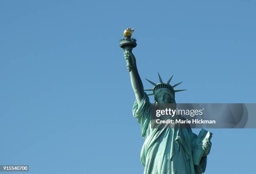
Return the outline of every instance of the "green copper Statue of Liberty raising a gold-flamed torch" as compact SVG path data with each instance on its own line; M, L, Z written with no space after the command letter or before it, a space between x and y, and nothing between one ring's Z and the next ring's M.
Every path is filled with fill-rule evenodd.
M125 38L120 40L124 49L124 57L131 77L131 84L136 100L133 105L133 116L141 124L141 135L145 142L141 149L141 163L145 166L144 174L202 174L206 168L207 155L211 142L207 139L197 146L197 135L191 128L151 128L151 102L148 95L154 95L155 103L176 103L174 90L178 84L171 85L172 77L164 83L159 75L160 83L153 89L144 90L138 74L136 59L131 52L136 46L136 39L131 38L133 30L127 28ZM144 91L152 91L146 94ZM202 151L199 161L195 161L198 151Z

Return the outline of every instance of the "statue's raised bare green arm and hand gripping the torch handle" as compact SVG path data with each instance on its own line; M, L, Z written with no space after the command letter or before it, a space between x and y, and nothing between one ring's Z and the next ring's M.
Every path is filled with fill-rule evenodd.
M125 50L124 52L125 60L128 61L128 71L130 72L131 84L133 91L135 93L138 105L141 104L141 100L144 96L143 84L141 82L141 77L138 74L138 69L136 66L136 59L132 52Z

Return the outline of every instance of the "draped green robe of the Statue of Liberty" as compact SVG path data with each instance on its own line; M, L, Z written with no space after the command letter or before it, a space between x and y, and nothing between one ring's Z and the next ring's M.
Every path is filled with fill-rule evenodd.
M133 105L133 116L141 124L145 142L141 149L144 174L201 174L207 157L193 164L192 150L197 135L191 128L151 128L151 103L146 93L141 104Z

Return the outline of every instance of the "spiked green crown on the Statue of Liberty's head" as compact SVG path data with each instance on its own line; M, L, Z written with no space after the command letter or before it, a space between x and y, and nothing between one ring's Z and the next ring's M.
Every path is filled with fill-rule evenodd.
M175 95L175 92L180 92L180 91L184 91L184 90L174 90L174 87L178 86L179 84L181 84L182 82L179 82L177 84L174 84L174 85L170 85L170 82L172 80L172 77L168 80L167 83L164 83L158 73L158 77L159 77L159 81L160 83L158 84L155 84L154 82L151 82L150 80L146 79L149 83L153 84L154 85L154 88L153 89L147 89L147 90L144 90L144 91L153 91L152 93L150 94L147 94L147 95L154 95L156 90L159 90L161 88L166 88L168 90L170 90L174 95Z

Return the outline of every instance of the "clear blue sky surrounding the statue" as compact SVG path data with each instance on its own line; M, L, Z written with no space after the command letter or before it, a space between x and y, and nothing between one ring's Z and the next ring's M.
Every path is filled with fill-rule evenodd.
M255 103L256 1L0 2L0 164L31 174L143 173L119 40L180 103ZM153 101L153 98L151 98ZM194 130L198 133L199 130ZM206 174L254 174L256 129L212 129Z

